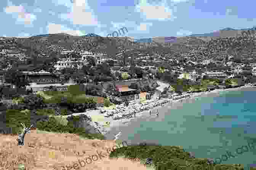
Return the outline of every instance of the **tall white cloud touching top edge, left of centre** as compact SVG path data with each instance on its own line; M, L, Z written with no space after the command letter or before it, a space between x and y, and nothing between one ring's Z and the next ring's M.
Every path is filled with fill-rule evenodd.
M64 2L66 3L66 1ZM98 23L97 17L94 16L93 10L88 5L87 0L75 0L72 6L70 6L70 9L71 9L70 13L60 14L60 17L64 20L69 19L70 21L73 22L73 24L77 24L77 25L100 26Z

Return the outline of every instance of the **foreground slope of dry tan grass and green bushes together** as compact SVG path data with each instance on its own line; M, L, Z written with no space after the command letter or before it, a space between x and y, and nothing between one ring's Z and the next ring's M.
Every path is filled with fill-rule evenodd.
M155 170L157 166L158 169L243 170L240 164L209 165L210 159L195 158L181 146L129 145L125 141L117 144L37 129L26 134L24 146L17 146L16 138L16 135L0 134L0 169L14 170L23 165L26 170ZM148 163L151 166L144 165L147 157L152 159Z

